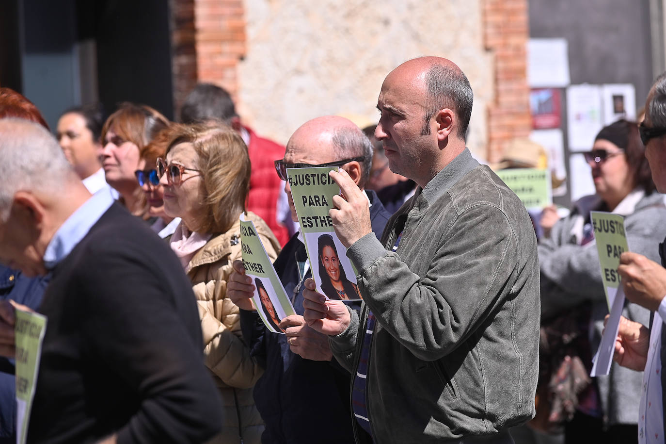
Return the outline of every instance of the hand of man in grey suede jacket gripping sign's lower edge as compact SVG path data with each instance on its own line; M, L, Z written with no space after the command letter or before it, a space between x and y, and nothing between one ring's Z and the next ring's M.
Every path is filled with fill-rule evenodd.
M315 331L336 336L349 327L351 316L342 301L327 301L326 296L314 291L312 278L305 280L303 290L303 319Z

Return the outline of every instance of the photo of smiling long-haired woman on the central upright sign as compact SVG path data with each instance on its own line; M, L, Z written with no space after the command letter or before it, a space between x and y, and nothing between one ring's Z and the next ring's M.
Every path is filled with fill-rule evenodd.
M318 257L319 279L328 299L361 299L358 287L344 273L331 235L324 234L318 238Z

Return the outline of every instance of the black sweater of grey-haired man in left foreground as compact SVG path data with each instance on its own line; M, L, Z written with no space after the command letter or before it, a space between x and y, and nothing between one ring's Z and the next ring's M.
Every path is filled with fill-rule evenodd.
M28 441L199 443L221 427L190 281L114 203L53 270Z

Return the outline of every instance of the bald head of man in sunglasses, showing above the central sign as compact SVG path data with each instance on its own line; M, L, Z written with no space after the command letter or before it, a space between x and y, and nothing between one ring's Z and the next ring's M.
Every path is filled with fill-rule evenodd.
M308 157L304 163L330 163L354 157L365 157L360 162L362 188L370 177L372 143L354 122L344 117L328 115L316 117L301 125L286 146L287 151Z

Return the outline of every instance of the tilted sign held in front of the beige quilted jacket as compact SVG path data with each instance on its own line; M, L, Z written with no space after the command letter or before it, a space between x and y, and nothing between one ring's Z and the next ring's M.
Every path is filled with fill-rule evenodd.
M254 307L270 331L284 334L278 324L282 318L296 314L294 307L256 234L254 223L246 221L243 214L240 215L240 244L245 274L252 278L254 285Z

